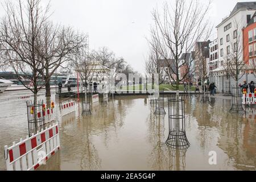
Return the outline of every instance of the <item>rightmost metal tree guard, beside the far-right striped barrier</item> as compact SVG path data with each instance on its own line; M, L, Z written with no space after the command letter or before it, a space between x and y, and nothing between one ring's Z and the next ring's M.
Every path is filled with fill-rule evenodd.
M232 106L229 111L233 114L246 113L242 105L242 90L239 87L232 86Z

